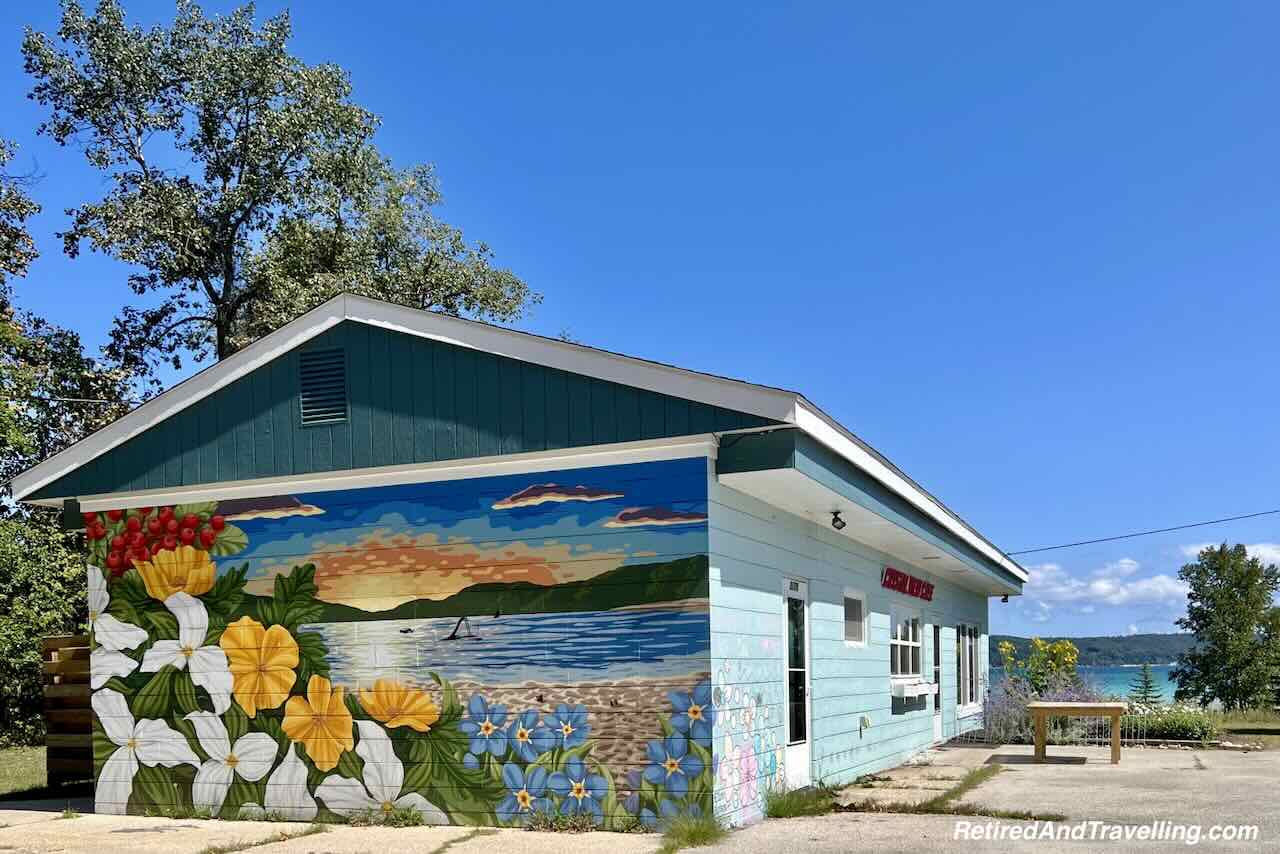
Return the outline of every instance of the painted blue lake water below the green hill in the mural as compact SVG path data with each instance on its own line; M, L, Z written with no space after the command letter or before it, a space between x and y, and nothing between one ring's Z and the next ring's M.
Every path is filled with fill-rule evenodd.
M686 676L707 668L707 612L636 609L328 622L306 626L329 647L330 677L366 685L379 676L511 685L573 685L630 677Z

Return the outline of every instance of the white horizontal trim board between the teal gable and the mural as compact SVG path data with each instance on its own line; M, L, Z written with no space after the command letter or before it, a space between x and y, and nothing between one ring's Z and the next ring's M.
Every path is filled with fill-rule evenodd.
M375 469L348 469L307 475L256 478L252 480L227 480L193 487L168 489L140 489L125 493L83 495L79 507L84 512L128 507L155 507L201 501L229 501L232 498L268 498L296 495L335 489L369 489L403 484L465 480L495 475L538 474L561 469L594 469L631 462L658 460L685 460L689 457L716 458L716 437L712 434L657 439L652 442L621 442L617 444L508 453L495 457L476 457L445 462L380 466ZM58 506L58 501L38 502Z

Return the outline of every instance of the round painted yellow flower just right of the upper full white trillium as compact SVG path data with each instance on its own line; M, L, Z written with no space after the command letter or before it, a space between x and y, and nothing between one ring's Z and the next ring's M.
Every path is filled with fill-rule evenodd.
M284 626L264 629L252 617L227 626L218 645L227 653L236 702L250 717L274 709L289 697L298 675L298 641Z

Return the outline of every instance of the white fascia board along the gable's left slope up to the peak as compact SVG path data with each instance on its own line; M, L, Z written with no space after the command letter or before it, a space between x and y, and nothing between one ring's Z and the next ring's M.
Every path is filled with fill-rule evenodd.
M26 495L51 484L67 472L128 442L147 428L173 417L192 403L306 343L325 329L338 325L346 320L344 302L344 296L339 294L316 306L297 320L259 338L248 347L210 365L198 374L188 376L164 394L147 401L128 415L111 421L101 430L22 472L10 481L14 501L22 501Z

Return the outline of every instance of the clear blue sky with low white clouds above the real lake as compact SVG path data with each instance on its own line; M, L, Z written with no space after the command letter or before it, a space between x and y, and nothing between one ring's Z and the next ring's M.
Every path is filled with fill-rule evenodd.
M1280 8L897 5L312 0L293 50L544 294L522 329L803 391L1006 551L1280 507ZM18 298L97 347L128 270L55 233L105 184L23 100L56 18L0 12ZM1171 631L1197 545L1277 526L1023 556L992 630Z

